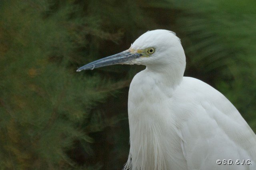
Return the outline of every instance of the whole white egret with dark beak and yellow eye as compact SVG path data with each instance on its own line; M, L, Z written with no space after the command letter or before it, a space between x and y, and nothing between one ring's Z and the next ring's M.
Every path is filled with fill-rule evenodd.
M186 57L174 32L146 32L128 50L77 71L114 64L146 65L130 84L125 169L256 170L256 135L219 91L183 77Z

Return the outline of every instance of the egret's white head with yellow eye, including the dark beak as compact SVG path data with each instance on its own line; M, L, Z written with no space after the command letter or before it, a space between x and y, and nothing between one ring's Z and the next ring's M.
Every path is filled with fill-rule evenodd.
M149 69L185 70L186 58L180 39L168 30L148 31L121 53L93 61L77 71L115 64L146 65ZM183 74L182 73L182 74Z

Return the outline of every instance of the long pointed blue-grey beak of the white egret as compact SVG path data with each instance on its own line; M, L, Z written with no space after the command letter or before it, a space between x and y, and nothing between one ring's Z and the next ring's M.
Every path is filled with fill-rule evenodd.
M94 69L94 68L104 67L104 66L108 66L108 65L128 64L128 63L130 63L130 61L140 57L141 55L142 54L140 54L140 53L131 53L129 50L126 50L121 53L111 55L109 57L105 57L105 58L93 61L91 63L88 63L88 64L80 67L76 71Z

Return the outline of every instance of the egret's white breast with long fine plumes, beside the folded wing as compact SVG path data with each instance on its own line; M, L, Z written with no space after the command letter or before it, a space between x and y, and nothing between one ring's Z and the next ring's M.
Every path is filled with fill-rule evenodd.
M186 169L171 100L145 70L132 80L128 97L132 169Z

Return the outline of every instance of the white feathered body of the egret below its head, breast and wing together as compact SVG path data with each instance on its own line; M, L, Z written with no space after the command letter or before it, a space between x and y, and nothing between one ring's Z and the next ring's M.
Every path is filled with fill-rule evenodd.
M183 77L175 89L161 88L147 72L138 73L130 85L127 165L145 170L256 169L256 136L224 95L191 77ZM236 165L236 160L251 160L252 165Z

